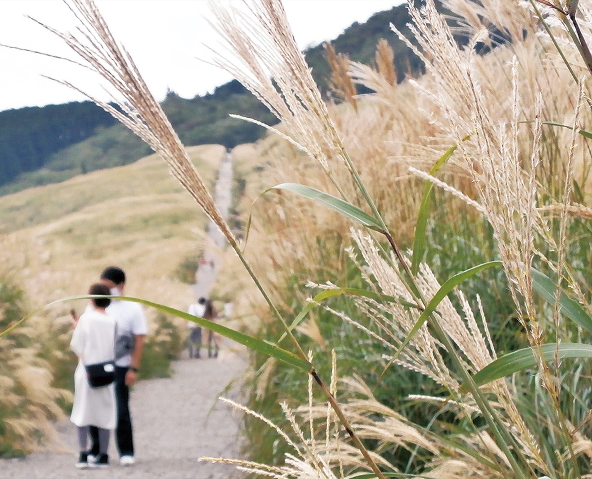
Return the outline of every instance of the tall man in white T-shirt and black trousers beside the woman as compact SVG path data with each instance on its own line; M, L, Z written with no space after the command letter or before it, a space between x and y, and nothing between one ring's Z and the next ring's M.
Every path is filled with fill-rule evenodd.
M105 268L101 282L110 289L112 296L123 296L126 274L117 266ZM117 322L115 342L115 400L117 401L117 427L115 439L120 464L129 466L136 462L130 414L130 386L138 378L140 360L147 333L146 316L139 303L112 300L107 313ZM98 454L98 430L91 427L92 446L89 454Z

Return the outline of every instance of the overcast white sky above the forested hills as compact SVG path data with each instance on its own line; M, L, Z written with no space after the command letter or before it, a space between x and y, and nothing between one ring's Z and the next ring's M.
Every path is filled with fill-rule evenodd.
M239 0L218 0L236 2ZM211 56L204 46L217 40L205 21L205 0L95 0L115 38L130 52L142 76L160 101L167 88L181 97L212 92L232 78L201 62ZM288 21L299 46L332 40L354 21L403 0L284 0ZM71 30L72 14L60 0L0 0L0 43L73 57L59 38L24 15L60 30ZM0 47L0 111L61 104L85 99L41 74L66 79L99 94L99 79L81 67L27 52Z

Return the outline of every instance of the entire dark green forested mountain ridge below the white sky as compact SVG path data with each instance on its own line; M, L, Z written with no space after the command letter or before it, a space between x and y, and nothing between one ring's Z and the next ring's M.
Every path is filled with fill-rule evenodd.
M377 41L387 38L401 80L407 68L417 69L418 60L389 25L392 22L404 28L408 21L406 5L398 5L375 13L366 22L354 22L331 43L338 53L352 60L372 63ZM304 54L321 92L327 94L330 69L323 44L310 47ZM230 149L255 142L265 134L265 128L230 118L231 113L271 126L278 121L236 80L218 86L211 94L190 99L169 91L162 107L188 146L221 144ZM77 115L78 110L83 114ZM0 195L126 165L149 154L146 144L89 101L0 112Z

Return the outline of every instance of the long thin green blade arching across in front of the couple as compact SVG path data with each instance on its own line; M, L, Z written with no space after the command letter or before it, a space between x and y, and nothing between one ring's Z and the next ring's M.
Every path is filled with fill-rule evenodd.
M218 333L224 337L227 337L233 341L236 341L237 343L247 346L247 348L253 349L253 350L263 353L267 356L271 356L272 358L278 359L279 361L283 361L291 366L301 369L302 371L310 372L313 369L313 366L310 364L310 362L305 361L305 359L299 358L298 356L294 355L293 353L291 353L285 349L278 348L278 346L275 346L273 344L270 344L268 342L260 340L256 337L246 335L244 333L241 333L240 331L230 329L229 327L222 326L222 324L218 324L218 323L215 323L213 321L210 321L210 320L207 320L207 319L204 319L201 317L193 316L192 314L186 313L185 311L171 308L169 306L165 306L164 304L153 303L153 301L143 300L141 298L133 298L133 297L129 297L129 296L115 297L115 296L96 296L96 295L70 296L67 298L62 298L60 300L52 301L52 303L46 304L46 306L44 306L44 307L50 306L51 304L62 303L63 301L74 301L74 300L83 300L83 299L88 299L88 298L105 298L105 297L116 298L118 300L123 300L123 301L131 301L133 303L140 303L140 304L143 304L144 306L149 306L149 307L155 308L159 311L162 311L163 313L172 314L173 316L177 316L182 319L192 321L196 324L199 324L202 327L207 327L207 329L210 329L210 330L214 331L215 333ZM28 314L27 316L25 316L24 318L19 320L17 323L13 324L11 327L0 332L0 337L8 334L11 330L13 330L19 324L22 324L25 320L27 320L28 318L30 318L34 314L38 313L38 311L41 311L42 309L43 308L40 308L40 309L34 311L33 313Z

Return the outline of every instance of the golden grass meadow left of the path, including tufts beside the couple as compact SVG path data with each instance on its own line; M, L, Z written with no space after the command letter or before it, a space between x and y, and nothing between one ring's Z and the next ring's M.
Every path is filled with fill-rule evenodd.
M224 147L188 152L213 188ZM10 455L43 444L52 435L50 420L69 410L76 358L68 311L81 313L86 301L47 305L86 294L105 266L119 265L128 275L127 295L185 310L194 298L181 266L197 262L206 221L157 155L0 197L0 217L2 329L35 311L0 338L0 454ZM141 374L167 375L185 323L146 313Z

